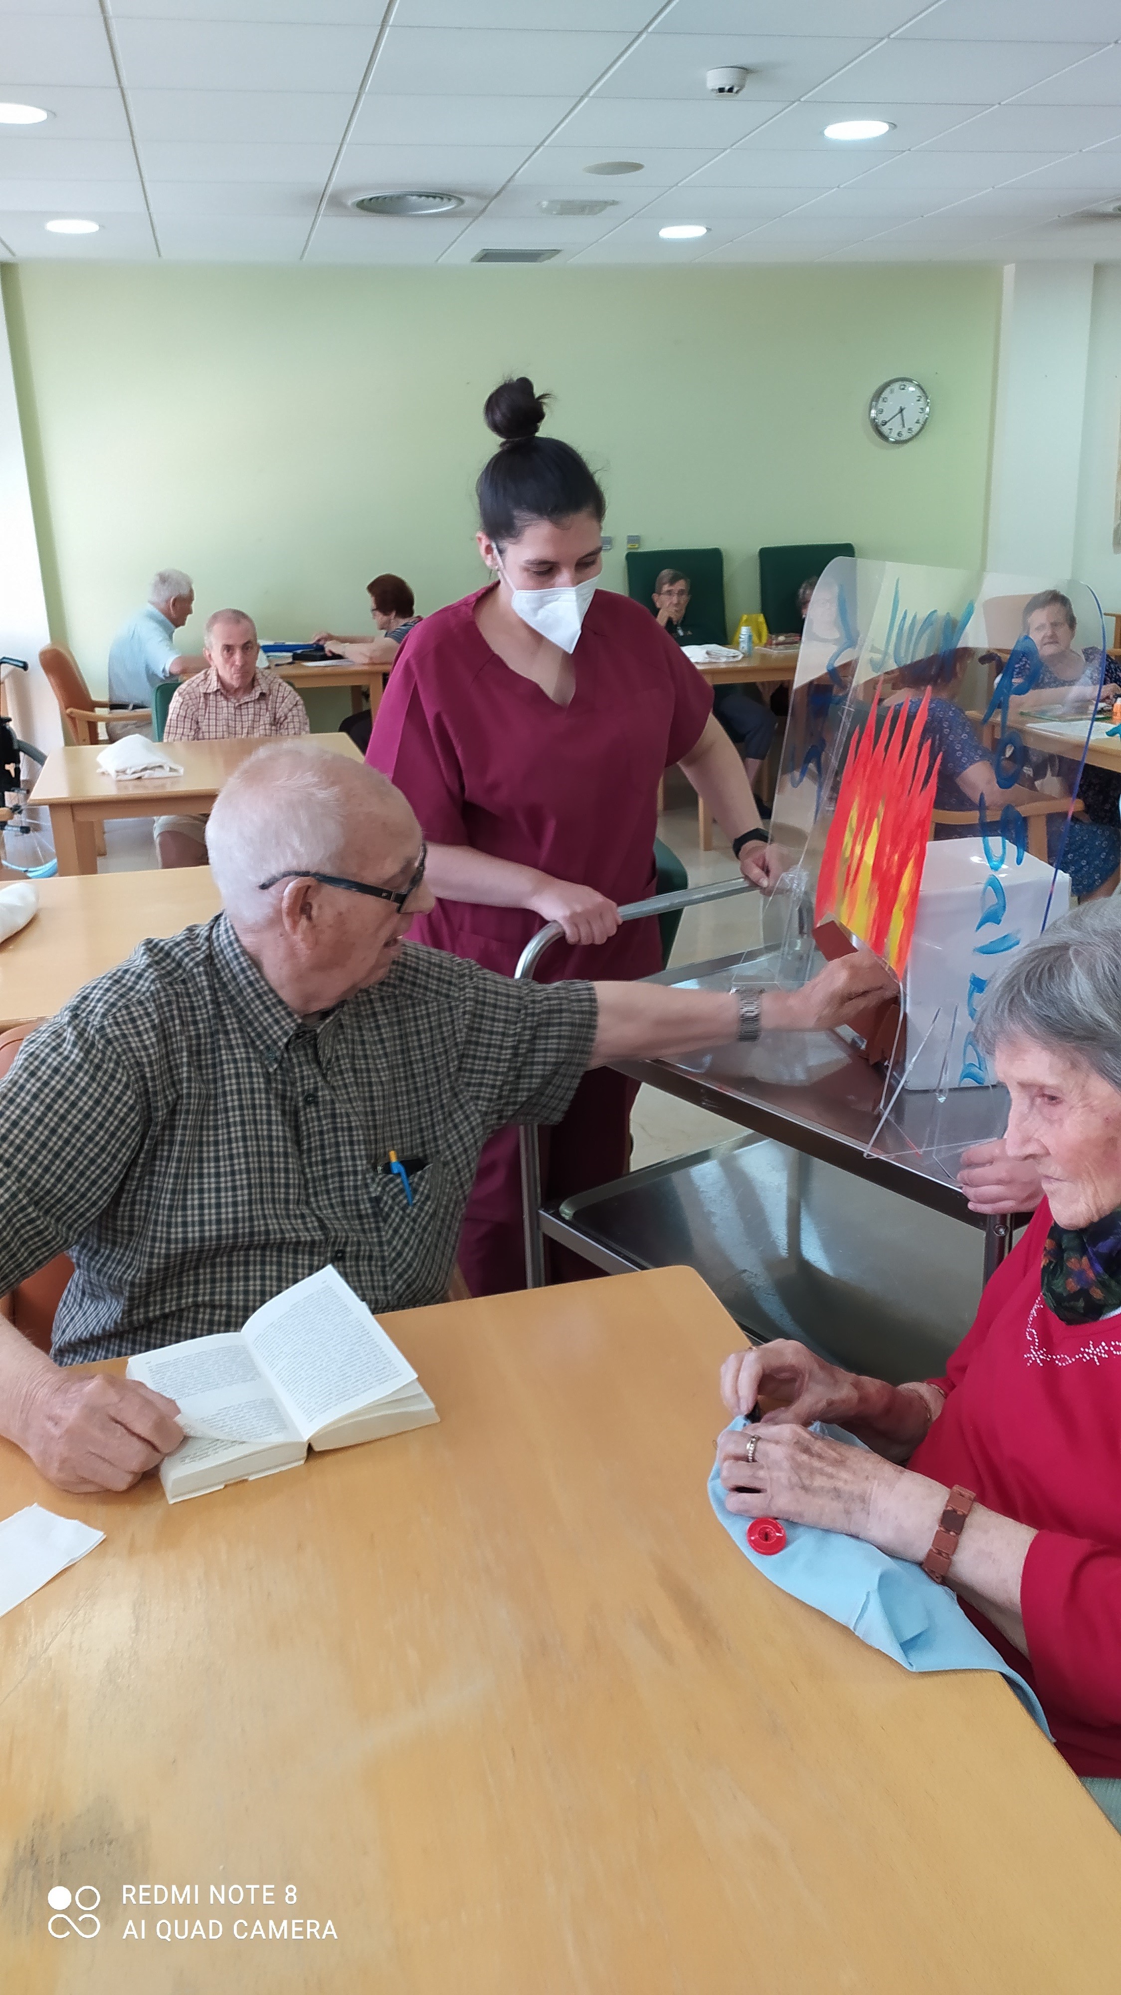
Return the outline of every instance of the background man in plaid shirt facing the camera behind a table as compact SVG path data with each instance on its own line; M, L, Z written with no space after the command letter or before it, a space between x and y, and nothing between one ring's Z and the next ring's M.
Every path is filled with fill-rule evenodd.
M257 626L245 610L215 610L203 630L205 670L168 708L166 742L245 740L249 734L307 734L295 686L257 668ZM162 866L205 866L205 812L156 818Z

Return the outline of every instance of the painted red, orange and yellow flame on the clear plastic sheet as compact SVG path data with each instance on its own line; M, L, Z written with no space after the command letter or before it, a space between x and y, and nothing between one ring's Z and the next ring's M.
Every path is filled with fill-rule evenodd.
M814 920L834 916L900 976L916 928L941 756L924 740L930 690L910 726L904 700L880 736L878 700L880 688L846 756Z

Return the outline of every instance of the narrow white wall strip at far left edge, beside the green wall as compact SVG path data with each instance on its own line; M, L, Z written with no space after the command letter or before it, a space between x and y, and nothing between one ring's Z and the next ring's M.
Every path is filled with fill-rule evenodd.
M0 311L0 652L26 658L30 672L8 672L4 692L16 734L38 748L62 744L62 720L38 654L50 642L42 571L16 409L8 325Z

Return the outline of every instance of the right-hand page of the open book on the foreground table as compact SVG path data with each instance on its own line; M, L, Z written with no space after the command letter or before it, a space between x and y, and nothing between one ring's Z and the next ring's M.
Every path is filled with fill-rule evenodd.
M305 1440L417 1377L333 1267L273 1297L241 1335Z

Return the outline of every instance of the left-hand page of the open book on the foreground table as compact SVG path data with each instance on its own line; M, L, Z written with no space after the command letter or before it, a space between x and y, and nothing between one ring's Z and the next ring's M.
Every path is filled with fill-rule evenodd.
M128 1377L174 1398L191 1440L211 1440L221 1450L297 1438L239 1331L144 1351L128 1361ZM213 1450L176 1448L176 1460L203 1460L207 1452Z

